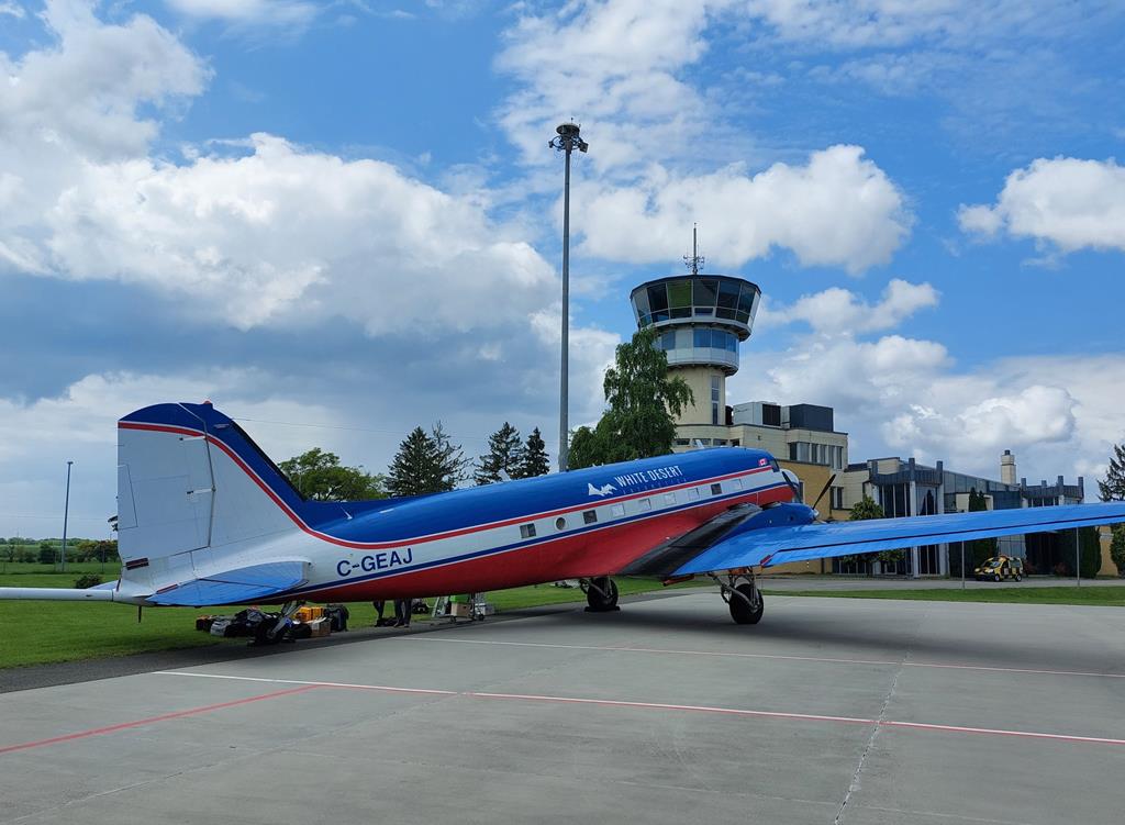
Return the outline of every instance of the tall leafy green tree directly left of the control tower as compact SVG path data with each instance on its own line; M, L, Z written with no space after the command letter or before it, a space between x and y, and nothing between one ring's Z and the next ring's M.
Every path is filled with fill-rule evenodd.
M676 416L693 397L683 378L668 375L668 356L656 348L654 330L618 344L602 387L609 409L594 429L579 427L572 434L572 468L672 452Z

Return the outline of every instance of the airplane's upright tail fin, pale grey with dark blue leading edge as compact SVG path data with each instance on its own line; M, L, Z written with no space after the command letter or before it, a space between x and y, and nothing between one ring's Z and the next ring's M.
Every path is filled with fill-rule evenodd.
M117 427L117 538L125 577L168 581L181 568L204 575L216 548L296 528L300 494L209 402L147 406Z

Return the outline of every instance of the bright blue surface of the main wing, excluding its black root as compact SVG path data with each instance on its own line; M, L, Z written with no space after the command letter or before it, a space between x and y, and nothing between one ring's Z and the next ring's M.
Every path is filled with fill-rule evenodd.
M1071 530L1117 522L1125 522L1123 502L763 527L728 535L682 565L674 575L714 573L759 565L771 567L808 558L850 556L855 553Z

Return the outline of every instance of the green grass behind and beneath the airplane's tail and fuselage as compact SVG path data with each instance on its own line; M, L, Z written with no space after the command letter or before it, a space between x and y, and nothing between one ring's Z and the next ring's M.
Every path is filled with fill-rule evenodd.
M97 566L98 563L92 564ZM39 570L0 574L0 586L71 588L78 575L88 572L72 570L63 574L43 572L43 567L50 571L48 565L20 566ZM106 580L114 577L116 575L110 574ZM692 584L694 583L688 583L687 586ZM663 590L658 582L650 581L619 580L618 585L622 595ZM498 612L503 612L543 604L584 602L586 597L577 588L541 584L489 593L488 600L496 606ZM136 609L127 604L0 601L0 667L127 656L207 645L245 645L246 639L220 639L195 629L197 616L231 615L237 610L235 607L147 608L138 625ZM370 627L375 624L375 608L370 602L350 603L348 610L352 627ZM386 615L394 615L390 603L387 604ZM424 617L415 619L424 620Z

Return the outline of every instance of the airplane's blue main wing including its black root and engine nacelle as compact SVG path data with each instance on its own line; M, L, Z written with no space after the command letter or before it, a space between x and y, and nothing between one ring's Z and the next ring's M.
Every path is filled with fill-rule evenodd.
M1123 502L982 510L867 521L783 523L788 518L795 518L793 513L786 515L792 506L794 505L781 505L767 510L747 508L742 511L736 508L727 511L698 530L652 550L621 573L675 577L739 567L772 567L788 562L919 545L1125 522Z

